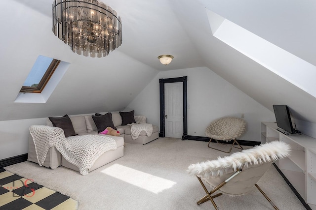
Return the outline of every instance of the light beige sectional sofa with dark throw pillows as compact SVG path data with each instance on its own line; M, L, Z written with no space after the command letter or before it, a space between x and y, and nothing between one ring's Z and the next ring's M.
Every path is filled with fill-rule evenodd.
M100 115L104 116L103 114L107 113L100 113ZM108 114L109 115L109 114ZM122 157L124 155L124 142L128 143L136 143L136 144L146 144L148 142L151 142L158 138L158 126L153 125L153 133L151 136L147 136L145 131L141 131L139 134L139 137L135 140L132 139L130 134L130 126L129 125L122 125L122 122L124 119L122 119L119 112L112 112L112 121L113 125L117 128L117 130L120 133L120 136L110 136L110 135L104 135L99 134L98 127L95 123L95 119L98 119L98 117L92 118L91 114L85 114L85 115L74 115L69 116L74 131L77 135L104 135L108 136L110 138L113 138L117 143L117 149L116 150L109 150L104 152L93 164L93 166L89 169L89 172L109 163L112 162L119 157ZM102 118L102 116L100 118ZM65 117L65 116L64 116ZM96 120L97 121L97 120ZM126 119L125 119L126 123ZM47 125L53 126L52 122L47 118ZM100 127L99 127L100 128ZM66 131L65 131L66 135ZM67 136L66 136L67 137ZM33 141L33 138L30 134L29 136L29 154L28 154L28 161L32 161L35 163L39 163L37 159L37 153L35 149L35 144ZM45 162L43 166L51 169L55 169L59 167L60 165L73 169L75 171L79 171L79 168L70 162L68 162L59 151L56 150L55 147L51 147L48 150Z

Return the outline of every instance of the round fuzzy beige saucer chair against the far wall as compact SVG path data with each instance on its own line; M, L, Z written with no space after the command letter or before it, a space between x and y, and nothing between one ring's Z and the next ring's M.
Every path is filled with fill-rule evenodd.
M205 130L205 135L210 138L207 147L219 150L216 148L212 148L209 146L212 139L214 139L217 143L220 143L218 140L222 141L234 141L231 145L231 149L229 151L219 150L226 153L232 151L235 144L239 147L238 149L243 150L243 148L238 144L236 139L240 137L246 130L246 121L240 118L220 118L212 121Z

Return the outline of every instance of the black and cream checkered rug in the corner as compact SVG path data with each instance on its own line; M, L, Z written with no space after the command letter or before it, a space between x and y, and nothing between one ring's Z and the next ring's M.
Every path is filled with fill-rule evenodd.
M0 210L76 210L78 202L0 168Z

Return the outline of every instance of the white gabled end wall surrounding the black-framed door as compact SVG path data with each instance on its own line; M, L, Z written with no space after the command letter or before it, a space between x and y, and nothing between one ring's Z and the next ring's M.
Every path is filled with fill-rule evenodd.
M164 71L128 105L159 125L159 79L188 76L188 135L205 136L207 125L221 117L241 117L247 131L239 139L260 141L261 121L275 121L274 113L241 92L207 67Z

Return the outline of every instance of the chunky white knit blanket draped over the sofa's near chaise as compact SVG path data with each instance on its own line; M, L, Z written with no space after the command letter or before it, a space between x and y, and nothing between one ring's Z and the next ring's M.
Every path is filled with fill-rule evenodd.
M116 150L117 143L106 136L83 135L65 137L63 129L47 125L32 125L30 133L40 166L44 164L50 147L55 147L65 159L87 175L89 168L104 152Z

